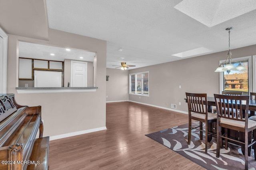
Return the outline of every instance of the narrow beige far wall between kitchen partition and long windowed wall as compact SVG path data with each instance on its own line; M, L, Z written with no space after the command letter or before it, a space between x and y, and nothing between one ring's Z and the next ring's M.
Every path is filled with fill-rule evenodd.
M128 70L107 68L108 81L106 81L107 102L127 101L129 98L129 72Z

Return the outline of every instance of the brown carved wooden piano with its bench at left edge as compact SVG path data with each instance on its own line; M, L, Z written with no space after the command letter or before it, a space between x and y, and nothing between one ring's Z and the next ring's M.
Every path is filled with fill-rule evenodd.
M0 94L0 170L48 169L43 129L41 106L21 106L14 94Z

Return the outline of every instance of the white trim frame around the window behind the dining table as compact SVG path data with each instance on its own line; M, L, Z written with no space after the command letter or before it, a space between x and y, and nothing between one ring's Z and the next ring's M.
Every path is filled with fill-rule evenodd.
M254 57L255 58L255 57ZM252 68L256 66L256 64L253 63L252 61L253 57L252 56L246 56L246 57L239 57L232 59L233 61L242 61L242 60L248 60L248 95L250 95L250 92L253 92L255 90L255 82L254 86L252 86L252 82L255 80L252 76ZM256 59L254 59L256 61ZM220 64L223 63L226 60L221 60ZM253 63L253 64L252 64ZM255 69L255 68L254 68ZM220 94L224 91L224 76L223 72L220 72ZM254 76L255 77L255 76Z

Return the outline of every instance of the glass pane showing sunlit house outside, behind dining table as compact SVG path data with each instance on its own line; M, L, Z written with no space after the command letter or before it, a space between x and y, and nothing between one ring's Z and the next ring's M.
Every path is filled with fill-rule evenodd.
M238 66L239 63L235 63L234 66ZM230 71L228 74L226 71L224 74L224 91L225 92L242 92L243 95L248 95L248 61L241 61L241 64L247 68L245 71Z

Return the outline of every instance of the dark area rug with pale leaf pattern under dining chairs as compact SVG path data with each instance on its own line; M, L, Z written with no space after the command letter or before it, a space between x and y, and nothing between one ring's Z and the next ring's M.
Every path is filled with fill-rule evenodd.
M193 122L193 126L199 125ZM188 145L188 124L165 129L146 135L158 143L174 150L182 156L192 160L196 164L208 170L244 170L244 156L241 147L229 143L228 150L220 150L220 158L216 158L216 138L208 143L208 153L204 152L205 144L200 140L199 131L192 129L191 143ZM254 160L253 150L248 156L248 169L255 170L256 160Z

